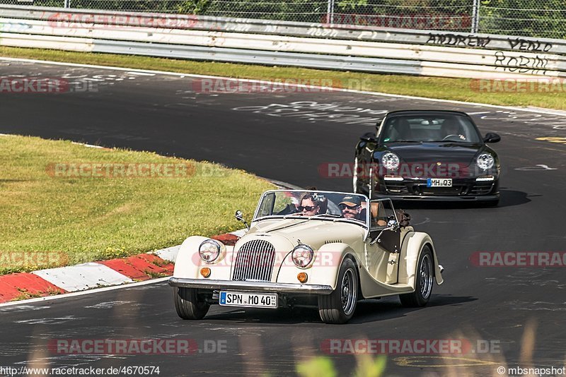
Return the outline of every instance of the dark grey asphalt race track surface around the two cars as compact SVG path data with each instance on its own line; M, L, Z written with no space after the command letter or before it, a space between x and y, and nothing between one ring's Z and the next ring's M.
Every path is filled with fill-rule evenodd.
M467 340L472 350L387 356L387 376L486 376L521 361L527 324L532 365L565 365L565 267L477 267L476 251L566 251L566 117L472 104L353 92L206 93L195 78L102 68L1 61L0 75L91 83L90 92L0 93L0 133L64 138L210 160L271 179L351 190L351 179L319 167L352 162L357 138L394 109L457 109L482 133L502 136L502 200L497 208L405 205L431 234L446 269L422 309L396 297L359 303L347 325L325 325L315 310L212 306L203 321L181 321L165 282L20 306L0 307L0 366L160 366L161 376L289 376L296 363L325 355L331 339ZM480 101L478 95L478 101ZM1 186L0 186L1 188ZM236 210L236 208L234 208ZM190 215L190 214L187 214ZM248 214L249 215L249 214ZM188 236L188 235L187 235ZM192 339L192 355L64 355L53 339ZM493 345L492 349L481 347ZM528 344L528 342L526 342ZM324 348L324 347L322 347ZM340 375L351 354L328 355ZM0 376L2 374L0 373Z

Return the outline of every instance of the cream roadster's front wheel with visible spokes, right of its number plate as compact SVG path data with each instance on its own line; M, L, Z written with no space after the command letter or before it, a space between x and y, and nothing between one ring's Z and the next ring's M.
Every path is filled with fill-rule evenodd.
M340 265L336 289L318 296L318 314L324 323L346 323L354 315L358 299L359 277L356 265L345 258Z

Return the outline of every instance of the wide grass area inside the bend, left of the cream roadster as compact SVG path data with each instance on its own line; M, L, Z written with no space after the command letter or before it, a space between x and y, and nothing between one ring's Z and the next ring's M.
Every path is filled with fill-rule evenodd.
M0 161L0 274L241 229L235 210L249 216L274 187L208 162L27 136L0 136Z

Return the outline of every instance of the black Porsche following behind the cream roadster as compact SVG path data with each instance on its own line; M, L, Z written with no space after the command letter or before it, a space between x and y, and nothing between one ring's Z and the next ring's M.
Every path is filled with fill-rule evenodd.
M471 117L446 110L388 112L356 146L354 192L393 200L499 203L499 157Z

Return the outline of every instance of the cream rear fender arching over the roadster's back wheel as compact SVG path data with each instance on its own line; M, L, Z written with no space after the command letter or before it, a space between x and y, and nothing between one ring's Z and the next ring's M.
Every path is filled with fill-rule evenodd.
M434 243L430 236L424 232L410 232L403 240L403 258L399 262L399 282L401 284L410 285L415 289L415 274L417 271L417 262L424 246L429 246L434 258L434 277L437 284L441 285L444 280L440 272L437 252L434 249Z

